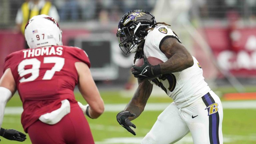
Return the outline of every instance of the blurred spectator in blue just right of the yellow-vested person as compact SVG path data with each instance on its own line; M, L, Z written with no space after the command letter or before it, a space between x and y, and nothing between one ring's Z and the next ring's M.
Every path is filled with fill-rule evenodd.
M63 6L60 8L60 18L65 21L68 19L69 13L71 14L71 20L78 20L79 7L77 0L65 0Z

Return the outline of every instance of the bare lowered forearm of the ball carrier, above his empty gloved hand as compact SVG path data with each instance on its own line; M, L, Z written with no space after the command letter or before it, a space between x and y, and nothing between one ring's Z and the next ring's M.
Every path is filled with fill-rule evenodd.
M133 98L123 111L130 111L136 116L129 117L129 120L137 118L144 110L147 100L152 92L153 85L149 81L140 82Z

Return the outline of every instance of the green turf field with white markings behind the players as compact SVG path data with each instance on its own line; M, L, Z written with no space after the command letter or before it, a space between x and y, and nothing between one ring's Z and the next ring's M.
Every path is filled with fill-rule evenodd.
M255 91L254 87L248 87L246 91ZM124 97L119 91L100 91L105 104L125 104L131 97ZM219 88L216 93L221 97L223 93L235 92L233 88ZM76 99L83 104L79 93L75 93ZM225 101L222 99L222 101ZM150 97L148 103L168 103L172 102L166 97ZM15 95L7 104L7 107L21 106L18 95ZM145 111L133 123L137 135L133 136L116 121L117 112L106 111L98 119L88 119L96 144L139 144L139 141L146 135L162 111ZM225 144L256 144L256 109L224 109L223 137ZM23 132L20 123L20 114L6 114L3 120L3 128L13 128ZM170 134L171 135L171 134ZM28 137L28 135L27 135ZM3 144L21 144L21 142L9 141L1 138ZM130 142L130 143L129 143ZM23 144L30 144L29 137ZM177 144L192 144L190 134L185 136Z

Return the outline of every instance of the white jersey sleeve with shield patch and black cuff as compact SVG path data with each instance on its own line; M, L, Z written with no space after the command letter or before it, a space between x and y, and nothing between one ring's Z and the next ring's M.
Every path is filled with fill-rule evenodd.
M164 40L170 37L176 38L181 43L178 36L170 28L167 28L166 26L158 26L153 30L153 32L154 32L153 42L156 47L161 48L161 45L164 42Z

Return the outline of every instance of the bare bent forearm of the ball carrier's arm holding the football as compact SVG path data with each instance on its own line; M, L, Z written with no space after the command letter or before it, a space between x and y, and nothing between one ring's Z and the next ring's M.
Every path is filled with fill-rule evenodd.
M179 72L193 66L194 61L192 56L184 53L175 53L166 62L159 64L161 74Z

